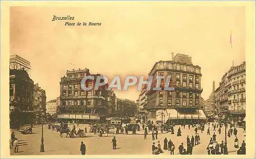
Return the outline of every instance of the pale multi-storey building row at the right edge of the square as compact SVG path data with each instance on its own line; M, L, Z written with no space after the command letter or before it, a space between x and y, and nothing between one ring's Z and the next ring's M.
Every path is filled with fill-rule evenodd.
M245 118L245 70L246 63L232 66L222 77L220 86L215 91L215 100L220 114L229 116L233 122Z

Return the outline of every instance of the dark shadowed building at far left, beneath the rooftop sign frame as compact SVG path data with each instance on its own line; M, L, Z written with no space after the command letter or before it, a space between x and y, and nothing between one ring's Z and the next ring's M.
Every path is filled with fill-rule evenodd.
M25 69L10 69L10 125L31 124L34 82Z

